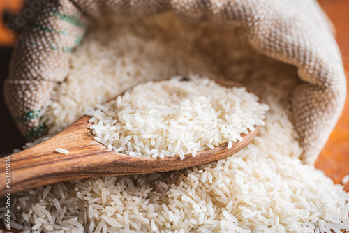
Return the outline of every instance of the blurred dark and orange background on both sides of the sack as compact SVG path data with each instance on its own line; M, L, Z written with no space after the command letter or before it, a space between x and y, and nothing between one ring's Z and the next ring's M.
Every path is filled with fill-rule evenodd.
M349 83L349 0L318 0L329 19L334 24L335 36L342 53ZM24 0L0 0L0 156L10 153L24 144L24 138L17 130L14 121L3 100L3 80L8 75L8 63L15 45L17 32L23 19L21 9ZM17 22L5 23L9 14L17 16ZM30 16L30 12L27 12ZM19 26L19 27L18 27ZM348 87L348 84L347 84ZM349 98L341 118L322 150L315 166L323 170L335 183L340 183L343 176L349 175ZM349 182L345 185L349 191Z

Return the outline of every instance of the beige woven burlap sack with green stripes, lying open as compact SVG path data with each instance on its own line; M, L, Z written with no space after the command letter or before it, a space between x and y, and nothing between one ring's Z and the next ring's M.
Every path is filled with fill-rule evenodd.
M315 161L341 113L346 96L341 54L313 0L34 0L31 4L40 10L20 34L5 82L6 102L28 140L45 133L40 123L43 106L57 82L66 77L70 52L89 22L108 14L145 17L173 10L186 22L209 20L225 29L239 27L255 50L296 66L304 83L292 92L290 101L304 163Z

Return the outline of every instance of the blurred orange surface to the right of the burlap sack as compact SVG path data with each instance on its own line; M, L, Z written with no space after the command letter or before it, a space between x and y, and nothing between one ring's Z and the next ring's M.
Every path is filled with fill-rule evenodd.
M342 53L349 90L349 1L319 0L319 3L336 28L336 40ZM343 176L349 175L349 95L341 118L315 166L322 169L335 183L340 183ZM344 188L349 191L349 182Z

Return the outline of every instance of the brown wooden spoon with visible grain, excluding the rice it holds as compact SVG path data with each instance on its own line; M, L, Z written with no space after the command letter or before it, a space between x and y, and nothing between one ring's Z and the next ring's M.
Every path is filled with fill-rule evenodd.
M216 82L228 86L241 86L226 80ZM88 122L90 118L81 117L50 140L1 158L0 195L8 192L14 194L72 179L168 172L211 163L242 149L253 140L260 129L260 126L255 126L253 132L242 135L241 142L233 142L231 149L228 149L228 143L225 143L214 149L198 151L195 158L191 154L186 155L183 160L179 156L134 157L107 149L94 140L89 128L92 124ZM57 153L57 148L66 149L69 153ZM6 163L6 160L10 160L10 163ZM6 164L10 164L10 170L6 170Z

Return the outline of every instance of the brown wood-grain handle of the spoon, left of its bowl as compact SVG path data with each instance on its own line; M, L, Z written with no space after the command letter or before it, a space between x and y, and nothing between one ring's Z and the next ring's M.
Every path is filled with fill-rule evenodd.
M50 140L1 158L0 195L10 192L6 190L17 193L49 183L86 177L85 172L96 171L96 165L90 168L89 165L108 150L93 140L88 120L89 117L82 117ZM66 149L69 153L57 153L57 148Z

